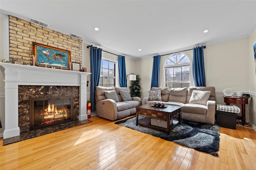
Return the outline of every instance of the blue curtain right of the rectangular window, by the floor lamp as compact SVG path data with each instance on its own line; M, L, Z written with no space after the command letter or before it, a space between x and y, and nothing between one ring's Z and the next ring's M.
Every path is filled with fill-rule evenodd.
M127 87L125 57L118 56L119 82L121 87Z

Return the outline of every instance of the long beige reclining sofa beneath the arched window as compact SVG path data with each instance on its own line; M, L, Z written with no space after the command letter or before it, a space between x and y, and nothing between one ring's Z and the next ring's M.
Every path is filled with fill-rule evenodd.
M151 88L151 92L155 92L155 90L161 91L161 97L158 99L156 98L157 100L153 101L149 101L150 97L144 97L142 100L142 104L152 105L154 104L154 102L159 102L164 104L182 106L182 119L214 125L216 112L216 97L214 87L190 86L188 88ZM195 90L194 93L193 90ZM199 96L198 91L210 91L207 92L208 95L210 94L208 100L206 99L204 102L200 100L194 100ZM191 96L192 100L190 100Z

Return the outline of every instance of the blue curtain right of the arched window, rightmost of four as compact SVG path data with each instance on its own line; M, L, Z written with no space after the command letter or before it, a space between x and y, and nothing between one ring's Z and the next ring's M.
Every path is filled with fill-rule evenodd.
M195 86L206 86L204 73L204 47L196 47L193 51L193 76Z

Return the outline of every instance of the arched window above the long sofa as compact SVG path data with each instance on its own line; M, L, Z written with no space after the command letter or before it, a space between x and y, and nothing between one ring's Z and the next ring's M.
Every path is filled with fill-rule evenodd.
M184 53L175 53L168 57L164 64L165 86L189 87L190 64L190 57Z

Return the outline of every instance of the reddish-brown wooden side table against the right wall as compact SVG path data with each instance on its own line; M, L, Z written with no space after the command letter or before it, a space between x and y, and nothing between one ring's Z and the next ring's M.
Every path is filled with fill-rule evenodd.
M248 99L250 97L228 97L224 96L224 102L226 105L230 104L241 104L242 105L242 125L245 123L245 105L248 104Z

